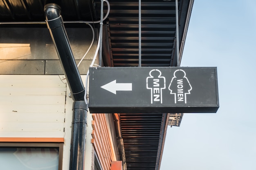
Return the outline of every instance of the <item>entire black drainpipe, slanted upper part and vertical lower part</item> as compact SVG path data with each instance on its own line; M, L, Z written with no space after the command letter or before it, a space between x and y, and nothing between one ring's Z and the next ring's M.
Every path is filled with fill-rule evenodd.
M86 117L85 88L70 48L70 42L61 17L61 7L55 3L45 4L46 24L61 61L73 102L73 121L70 170L83 170L85 152Z

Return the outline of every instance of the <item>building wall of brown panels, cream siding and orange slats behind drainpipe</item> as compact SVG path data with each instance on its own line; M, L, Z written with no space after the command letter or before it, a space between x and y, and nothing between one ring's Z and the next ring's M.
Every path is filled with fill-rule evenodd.
M90 46L92 30L67 29L67 34L78 63ZM73 100L49 31L0 28L0 37L0 146L63 143L59 166L69 170ZM83 82L96 45L79 66ZM94 152L103 170L110 170L111 162L119 160L113 119L88 112L87 120L85 170L94 168Z

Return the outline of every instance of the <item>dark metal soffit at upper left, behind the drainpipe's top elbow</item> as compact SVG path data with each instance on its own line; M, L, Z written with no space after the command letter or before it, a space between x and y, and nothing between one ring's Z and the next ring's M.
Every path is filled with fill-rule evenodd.
M0 0L0 22L45 21L46 0ZM49 0L48 0L49 1ZM50 0L61 5L64 21L92 20L92 0ZM59 3L61 2L61 3Z

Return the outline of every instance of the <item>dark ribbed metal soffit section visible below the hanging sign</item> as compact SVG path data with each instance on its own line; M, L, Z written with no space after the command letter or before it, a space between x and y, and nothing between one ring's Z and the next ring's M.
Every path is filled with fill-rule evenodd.
M127 170L158 170L167 114L120 114Z

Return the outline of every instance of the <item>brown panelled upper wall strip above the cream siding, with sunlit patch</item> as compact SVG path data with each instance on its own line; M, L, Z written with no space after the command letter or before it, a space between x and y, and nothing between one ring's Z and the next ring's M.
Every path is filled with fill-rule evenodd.
M67 28L67 35L78 63L92 42L92 29ZM96 47L95 38L94 44L86 55L86 60L83 60L79 66L80 74L87 73ZM47 28L0 28L0 54L0 74L63 74Z

